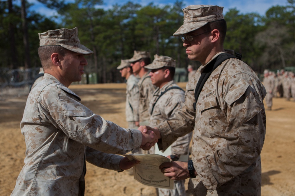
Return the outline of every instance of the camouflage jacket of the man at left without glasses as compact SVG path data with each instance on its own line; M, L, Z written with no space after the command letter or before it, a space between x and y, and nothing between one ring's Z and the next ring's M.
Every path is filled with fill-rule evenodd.
M84 157L89 163L121 171L120 155L136 152L139 130L105 120L80 103L80 98L45 73L30 92L21 131L26 158L12 195L83 195Z

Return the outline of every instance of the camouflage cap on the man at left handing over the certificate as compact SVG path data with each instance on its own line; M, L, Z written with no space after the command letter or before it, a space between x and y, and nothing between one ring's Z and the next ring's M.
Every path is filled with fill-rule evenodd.
M93 53L93 51L80 43L77 27L74 29L55 29L38 34L40 46L62 46L70 51L84 55Z

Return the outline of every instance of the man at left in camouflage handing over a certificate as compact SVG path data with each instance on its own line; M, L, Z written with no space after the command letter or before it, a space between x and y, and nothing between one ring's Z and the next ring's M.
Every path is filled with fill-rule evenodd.
M20 123L27 150L11 195L84 195L85 161L122 171L134 164L122 167L128 159L109 153L136 152L144 145L145 134L94 114L68 88L81 81L84 55L93 53L77 35L77 28L39 33L45 74L29 93Z

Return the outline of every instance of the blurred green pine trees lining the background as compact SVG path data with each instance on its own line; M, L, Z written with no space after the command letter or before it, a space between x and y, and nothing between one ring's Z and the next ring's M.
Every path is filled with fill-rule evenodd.
M173 33L183 24L183 1L173 5L147 6L132 1L115 4L103 9L102 0L75 0L71 3L58 0L37 0L58 13L58 20L35 11L27 11L30 55L32 66L40 66L37 55L38 34L50 29L79 29L81 43L94 51L88 56L88 72L96 72L101 82L117 72L121 59L131 58L134 50L150 51L153 55L171 56L177 67L186 67L191 62L179 37ZM242 53L242 60L255 71L264 68L282 68L295 63L295 0L287 0L287 6L273 6L265 16L257 13L241 14L237 9L224 13L227 21L225 49ZM0 58L1 67L10 67L12 62L9 27L15 30L17 59L24 59L23 30L20 7L12 1L13 12L8 12L7 1L0 1ZM28 8L32 4L28 5ZM54 22L58 21L58 22ZM23 62L19 62L23 66ZM112 79L111 79L112 80Z

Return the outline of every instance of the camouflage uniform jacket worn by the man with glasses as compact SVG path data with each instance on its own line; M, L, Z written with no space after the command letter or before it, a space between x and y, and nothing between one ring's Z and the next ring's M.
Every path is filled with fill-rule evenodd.
M189 191L194 195L260 195L266 90L247 64L231 58L211 73L194 110L196 84L204 68L213 66L212 59L187 83L182 109L158 126L159 149L165 150L194 129L192 160L198 175L189 180Z

